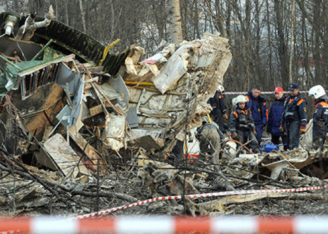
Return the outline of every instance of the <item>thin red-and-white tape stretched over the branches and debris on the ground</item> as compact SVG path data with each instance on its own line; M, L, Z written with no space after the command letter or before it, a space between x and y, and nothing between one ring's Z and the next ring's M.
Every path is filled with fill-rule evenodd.
M317 187L303 187L303 188L289 188L289 189L255 189L255 190L240 190L240 191L225 191L225 192L215 192L215 193L201 193L201 194L191 194L186 195L187 198L198 198L198 197L219 197L219 196L227 196L227 195L244 195L244 194L254 194L254 193L290 193L290 192L303 192L303 191L310 191L310 190L318 190L328 188L328 185L324 186L317 186ZM140 202L131 203L125 206L114 207L111 209L102 210L99 212L93 212L89 214L80 215L77 217L71 218L71 220L81 220L97 215L104 215L109 214L114 211L124 210L127 208L140 206L143 204L155 202L155 201L163 201L163 200L171 200L171 199L181 199L181 195L177 196L167 196L167 197L155 197L152 199L147 199Z

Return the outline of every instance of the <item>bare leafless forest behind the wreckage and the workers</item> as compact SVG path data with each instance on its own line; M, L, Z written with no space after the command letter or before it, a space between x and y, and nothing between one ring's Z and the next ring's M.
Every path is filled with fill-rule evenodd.
M120 39L114 52L139 44L146 58L163 40L172 42L174 2L184 40L206 31L229 39L233 59L224 78L226 90L287 89L291 80L301 90L327 87L326 0L1 0L0 11L44 16L52 4L56 20L104 45Z

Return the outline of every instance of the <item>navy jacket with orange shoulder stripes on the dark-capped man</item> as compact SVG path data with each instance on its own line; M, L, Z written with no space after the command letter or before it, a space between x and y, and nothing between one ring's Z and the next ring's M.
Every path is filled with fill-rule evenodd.
M295 97L289 95L285 100L281 123L292 121L300 121L301 125L305 126L308 122L306 100L300 94Z

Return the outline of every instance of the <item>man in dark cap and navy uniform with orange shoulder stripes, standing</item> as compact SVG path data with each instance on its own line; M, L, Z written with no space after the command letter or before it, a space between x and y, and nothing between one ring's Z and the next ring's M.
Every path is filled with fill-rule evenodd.
M287 149L297 148L300 134L305 134L307 124L306 100L299 94L298 84L290 83L289 95L284 103L280 131L287 134Z

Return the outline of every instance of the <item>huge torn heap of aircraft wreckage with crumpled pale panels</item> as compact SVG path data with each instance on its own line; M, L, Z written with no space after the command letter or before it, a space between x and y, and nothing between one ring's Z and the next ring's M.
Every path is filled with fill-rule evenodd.
M139 46L113 54L51 7L44 18L2 12L0 25L2 148L70 178L131 149L164 159L210 112L232 58L211 34L143 61Z

